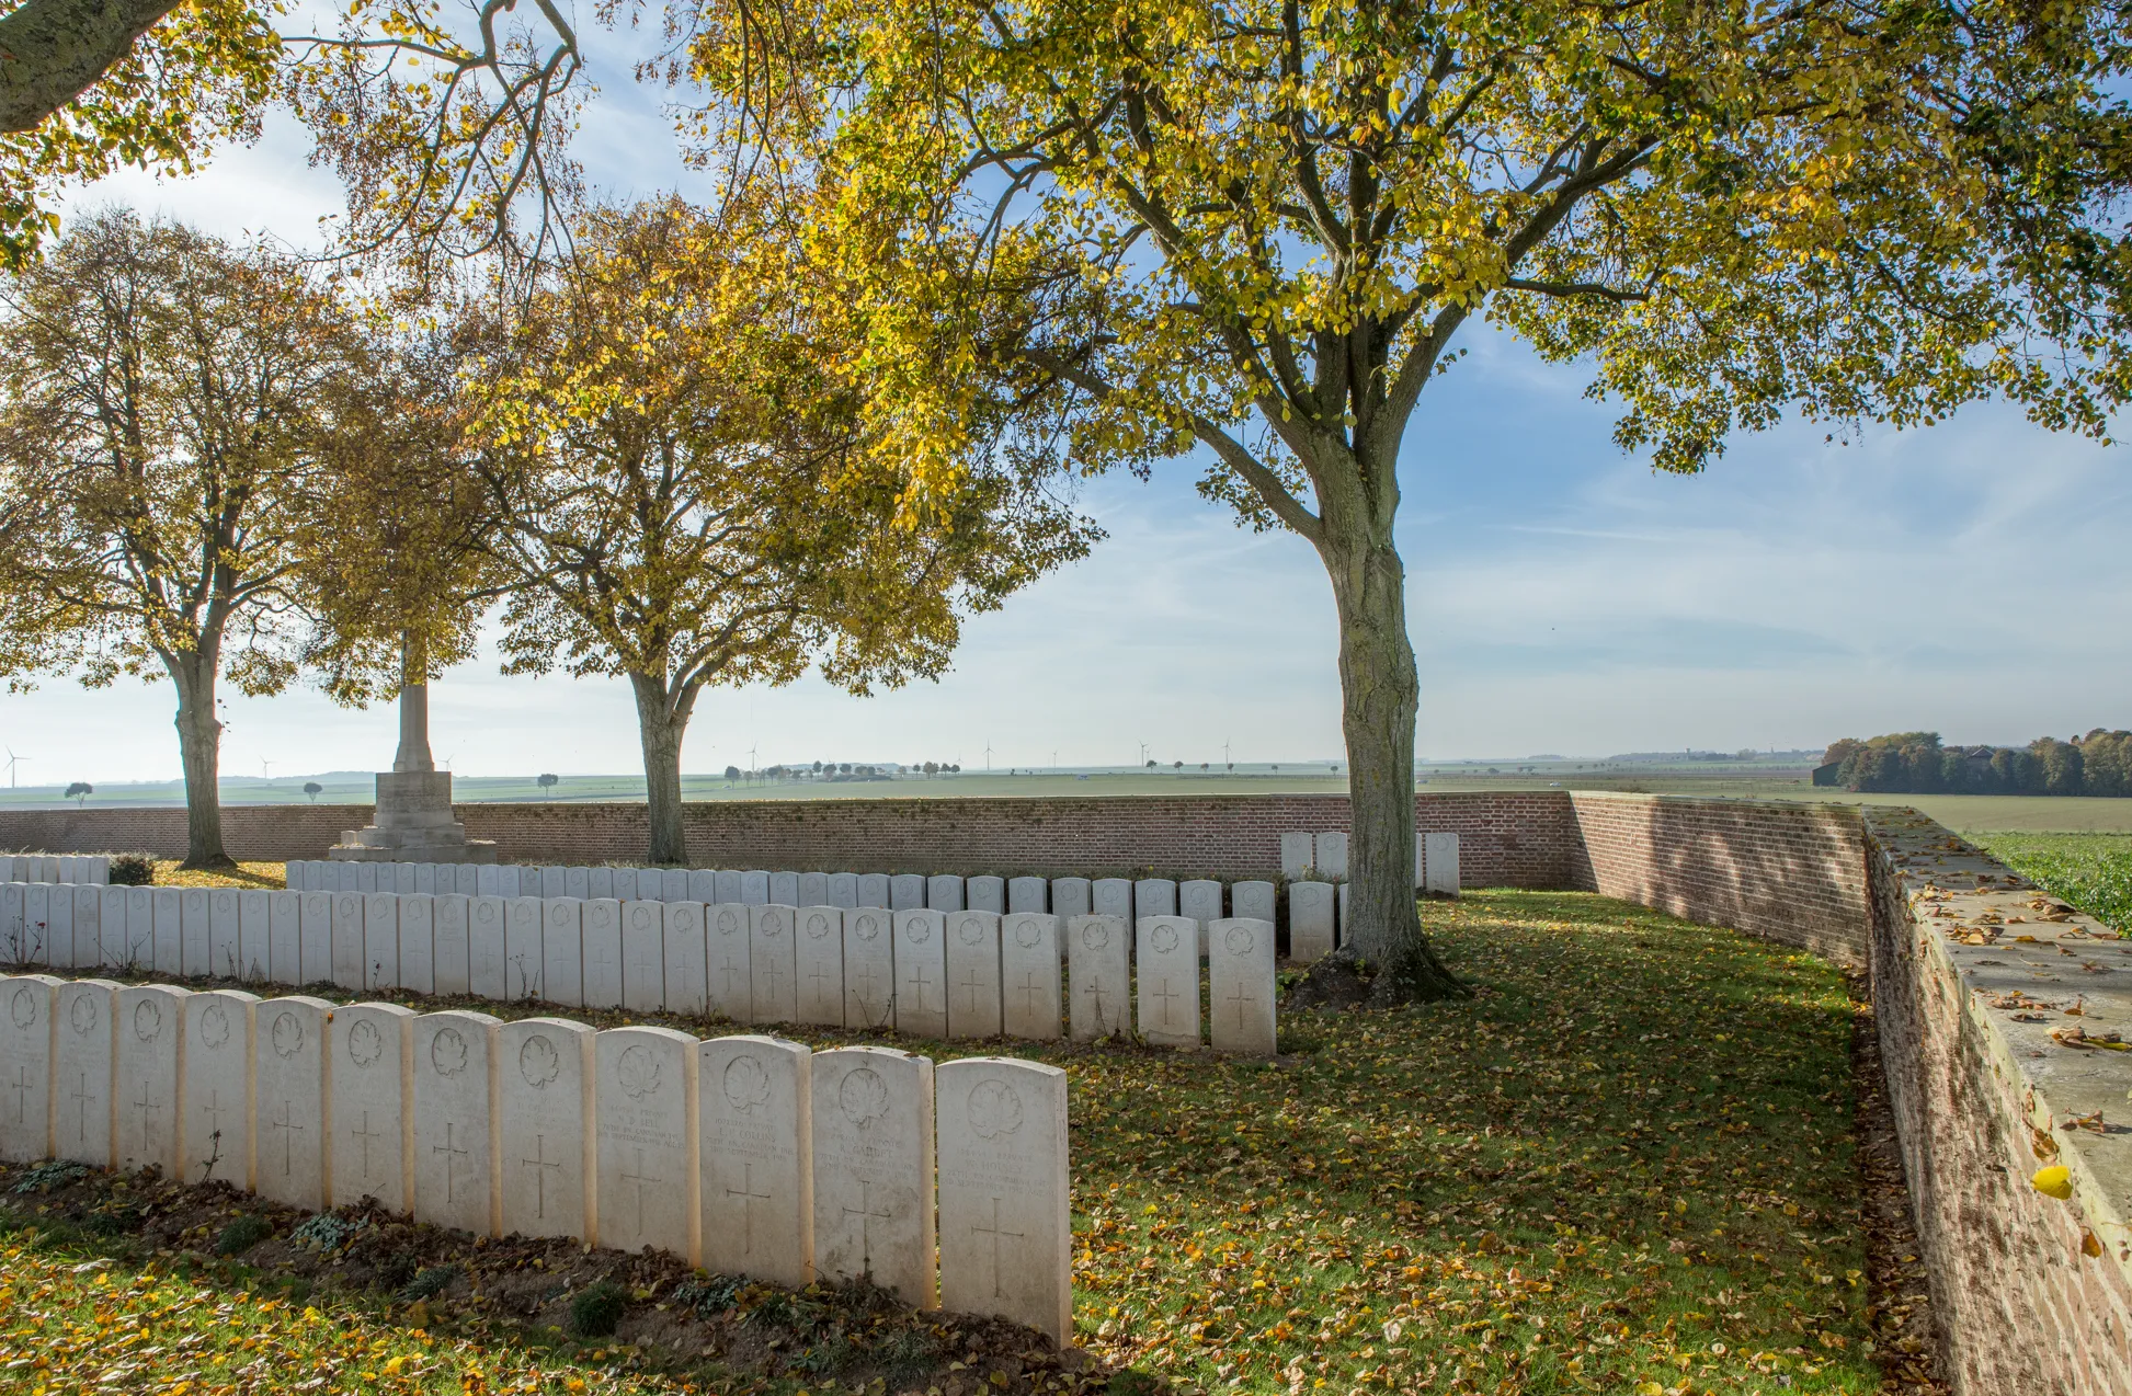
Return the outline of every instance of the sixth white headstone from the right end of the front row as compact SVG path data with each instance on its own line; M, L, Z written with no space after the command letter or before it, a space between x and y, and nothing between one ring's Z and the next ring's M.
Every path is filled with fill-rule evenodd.
M495 1236L495 1036L486 1012L414 1021L414 1219Z

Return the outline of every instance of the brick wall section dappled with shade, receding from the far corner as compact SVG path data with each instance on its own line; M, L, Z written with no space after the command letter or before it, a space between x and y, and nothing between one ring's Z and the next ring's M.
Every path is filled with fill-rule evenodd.
M1853 806L1680 795L1569 797L1571 887L1866 963L1872 906Z

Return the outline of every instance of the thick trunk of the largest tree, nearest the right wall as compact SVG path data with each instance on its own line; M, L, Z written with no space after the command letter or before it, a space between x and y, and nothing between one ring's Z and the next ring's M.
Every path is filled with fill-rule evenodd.
M1407 573L1390 537L1335 539L1341 727L1347 737L1347 946L1379 968L1379 997L1465 995L1422 936L1414 876L1414 716L1420 680L1407 639ZM1388 533L1388 531L1386 531Z

